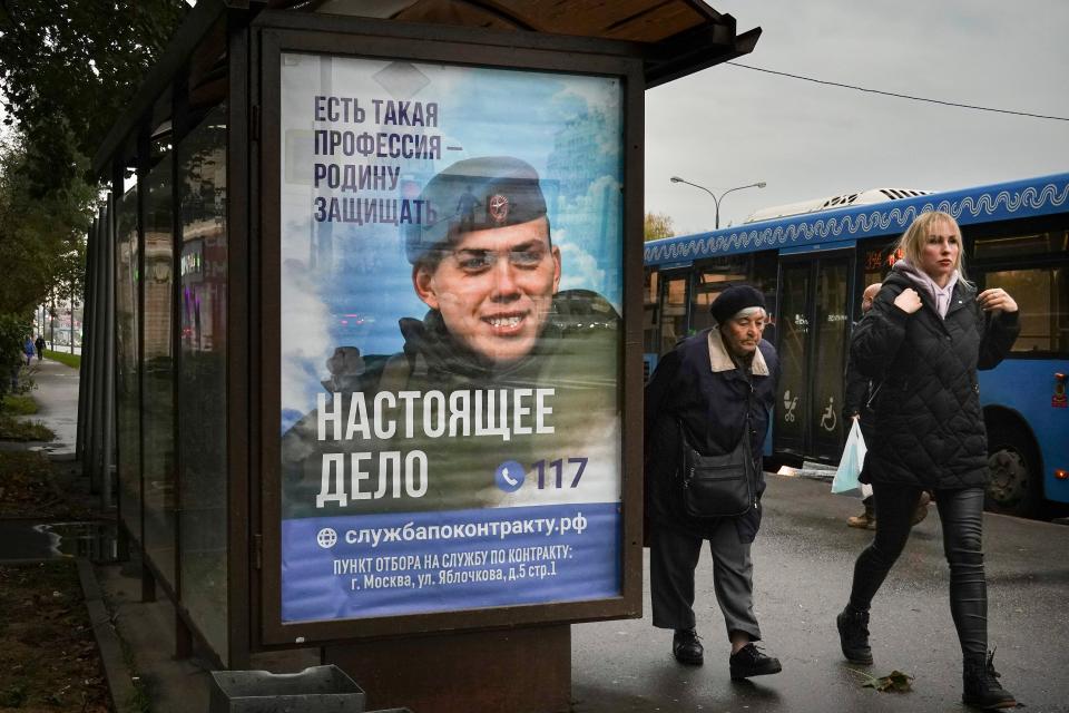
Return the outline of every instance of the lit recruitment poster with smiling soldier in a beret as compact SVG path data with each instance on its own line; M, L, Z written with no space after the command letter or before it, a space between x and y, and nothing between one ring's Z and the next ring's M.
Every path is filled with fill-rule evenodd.
M619 596L621 82L281 62L283 621Z

